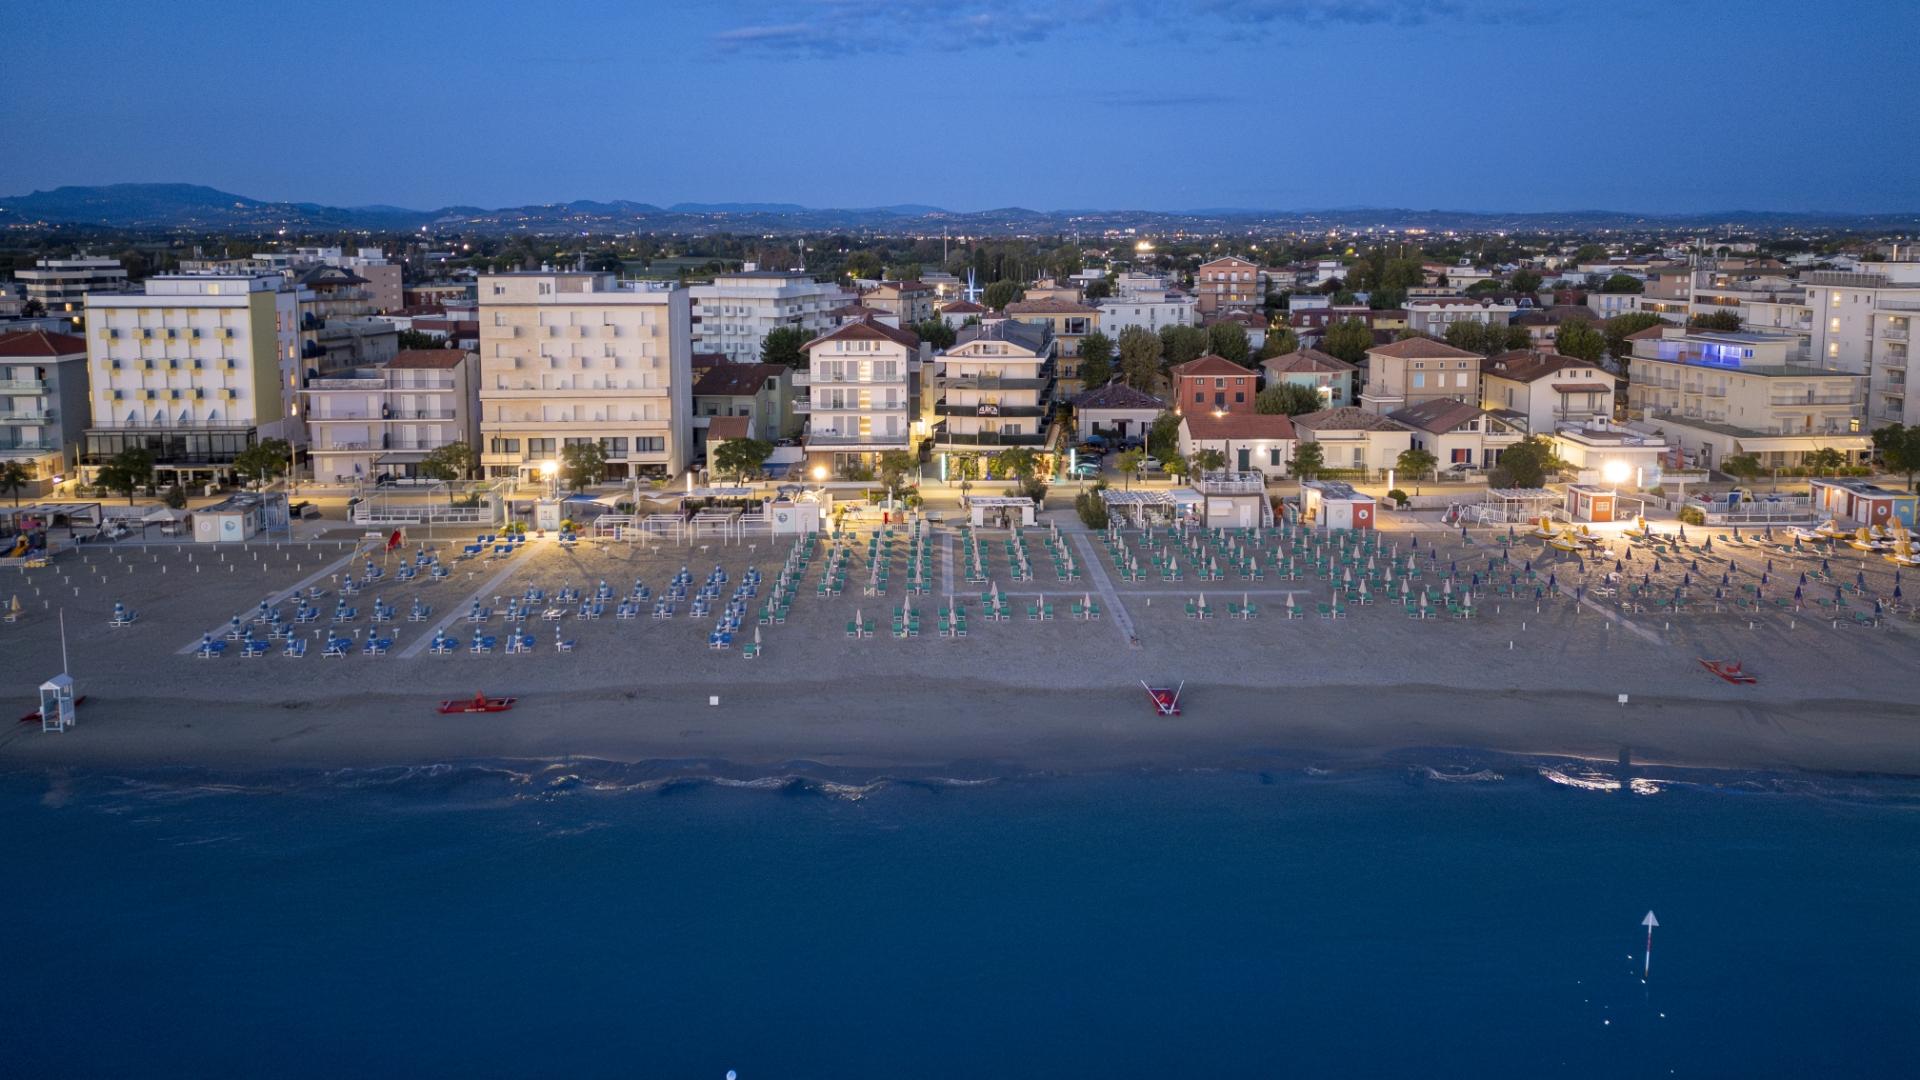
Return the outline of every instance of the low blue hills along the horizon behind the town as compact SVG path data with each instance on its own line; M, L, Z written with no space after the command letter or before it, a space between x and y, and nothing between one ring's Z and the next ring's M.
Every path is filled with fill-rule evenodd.
M956 211L925 204L864 209L818 209L791 202L547 202L486 209L447 206L323 206L313 202L265 202L204 184L104 184L61 186L0 198L0 227L104 227L152 231L263 233L275 229L419 231L445 233L937 233L972 234L1100 234L1108 229L1246 233L1254 229L1315 231L1325 227L1459 229L1459 231L1590 231L1590 229L1920 229L1920 213L1782 213L1730 209L1720 213L1630 213L1619 209L1565 209L1500 213L1473 209L998 209Z

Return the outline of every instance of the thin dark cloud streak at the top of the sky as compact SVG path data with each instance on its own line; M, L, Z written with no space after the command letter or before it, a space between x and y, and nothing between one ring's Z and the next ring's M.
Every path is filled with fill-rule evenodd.
M1210 33L1331 25L1478 23L1528 17L1544 0L816 0L776 10L783 21L745 23L712 35L728 52L845 56L897 48L968 52L1108 31L1146 40L1204 40ZM799 13L799 21L791 21Z

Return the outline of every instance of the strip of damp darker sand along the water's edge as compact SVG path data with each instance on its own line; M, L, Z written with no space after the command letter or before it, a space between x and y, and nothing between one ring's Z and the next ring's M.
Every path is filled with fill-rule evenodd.
M98 698L58 736L0 738L0 769L207 769L228 774L472 761L701 763L726 773L947 774L1367 767L1409 751L1601 767L1920 778L1920 717L1878 700L1726 700L1457 686L1188 686L1156 717L1135 688L1025 690L925 682L845 701L831 684L580 688L509 713L440 717L420 694L278 703ZM843 688L841 688L843 690ZM1354 715L1365 694L1369 715ZM1275 707L1279 701L1279 707ZM778 709L780 723L770 721Z

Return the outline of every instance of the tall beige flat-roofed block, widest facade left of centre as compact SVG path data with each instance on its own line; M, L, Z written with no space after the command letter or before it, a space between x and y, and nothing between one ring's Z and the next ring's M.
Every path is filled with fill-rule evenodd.
M678 475L693 450L685 288L593 271L480 279L480 463L536 479L597 442L607 477Z

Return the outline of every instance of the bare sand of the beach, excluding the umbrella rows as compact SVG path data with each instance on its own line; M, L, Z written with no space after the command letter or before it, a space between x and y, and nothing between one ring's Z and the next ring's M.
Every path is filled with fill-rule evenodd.
M56 611L67 619L69 665L86 703L79 724L42 734L10 724L0 734L0 767L369 767L455 759L599 757L682 761L687 769L856 767L876 773L1002 774L1006 771L1258 767L1261 763L1340 763L1377 759L1409 748L1473 748L1501 753L1576 755L1697 767L1822 773L1920 774L1920 623L1887 613L1874 625L1872 596L1891 594L1891 565L1855 552L1828 553L1830 577L1853 584L1866 575L1847 613L1820 609L1832 584L1807 588L1803 607L1736 611L1740 580L1768 573L1766 596L1791 596L1797 575L1820 553L1693 552L1651 569L1636 553L1624 577L1645 573L1655 592L1682 575L1695 582L1730 573L1726 601L1711 596L1680 615L1622 611L1613 598L1576 603L1574 582L1597 582L1624 559L1611 540L1603 561L1582 563L1538 540L1511 548L1511 565L1490 565L1501 546L1480 530L1471 546L1457 534L1384 532L1400 555L1419 552L1432 577L1450 567L1480 573L1475 619L1409 619L1380 601L1321 619L1315 605L1331 586L1313 575L1248 580L1125 580L1098 534L1062 523L1062 544L1079 552L1075 580L1062 580L1043 550L1044 528L1027 532L1033 580L1014 580L1006 532L979 532L991 582L1008 596L1012 619L987 621L968 582L960 538L933 530L931 596L914 596L922 634L897 640L891 613L906 596L904 542L889 559L885 596L864 596L870 580L864 534L852 544L847 588L818 596L822 557L804 571L781 625L758 626L764 653L745 661L766 588L749 601L749 619L732 650L710 650L712 619L578 619L568 611L526 630L528 655L430 655L426 638L442 625L472 632L465 611L474 600L495 607L528 586L589 594L609 582L616 598L634 580L659 590L682 567L695 580L720 565L732 590L753 565L774 577L789 548L764 538L751 546L582 544L563 550L536 540L507 559L461 559L440 540L453 573L430 582L397 582L397 559L374 555L386 577L348 601L357 619L342 634L371 626L374 598L399 607L388 655L323 659L319 648L286 659L276 648L257 659L198 659L202 634L296 584L326 590L330 615L340 578L365 571L351 542L248 546L92 548L52 567L8 571L0 600L21 598L23 619L0 632L0 671L25 713L33 686L60 671ZM1271 542L1269 542L1271 546ZM407 553L417 552L409 540ZM826 548L826 544L822 546ZM1135 538L1135 548L1139 540ZM1382 548L1382 557L1386 548ZM1726 559L1734 565L1728 567ZM1693 571L1701 559L1703 571ZM1772 559L1772 571L1764 571ZM1532 565L1532 584L1500 598L1492 580ZM1553 575L1557 594L1536 605L1532 588ZM1705 577L1699 577L1705 575ZM1430 578L1432 580L1432 578ZM1782 588L1784 584L1784 588ZM935 611L950 594L968 605L966 638L937 634ZM1185 605L1206 594L1212 619ZM1851 590L1849 590L1851 592ZM1284 617L1286 596L1306 611ZM1707 590L1711 594L1711 588ZM1056 605L1052 621L1027 619L1027 603ZM1260 617L1236 621L1227 605L1242 596ZM1071 617L1092 598L1102 617ZM407 623L419 600L432 617ZM111 628L113 603L138 611ZM545 603L543 603L545 605ZM651 607L651 605L649 605ZM288 607L290 609L290 607ZM872 638L847 638L856 611L877 623ZM1834 625L1839 617L1839 626ZM309 638L328 621L301 626ZM488 634L505 634L495 613ZM553 638L576 642L561 653ZM411 655L409 655L411 653ZM1734 686L1703 671L1697 657L1740 659L1759 684ZM1185 713L1156 717L1139 680L1185 680ZM499 715L434 711L442 698L509 694L518 705ZM1628 694L1628 703L1619 696ZM718 698L718 705L708 703Z

